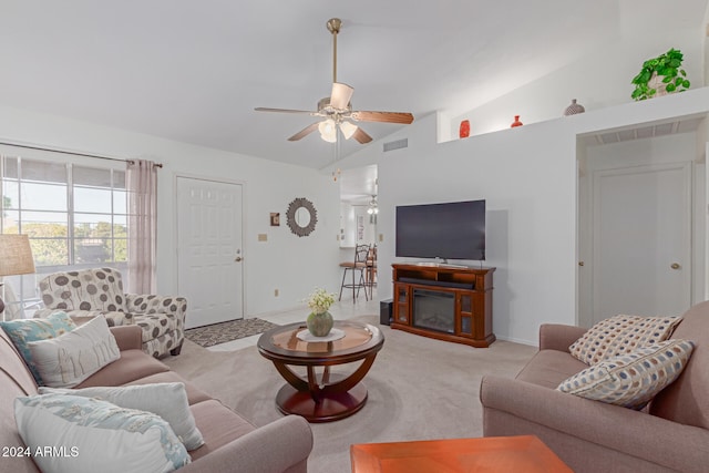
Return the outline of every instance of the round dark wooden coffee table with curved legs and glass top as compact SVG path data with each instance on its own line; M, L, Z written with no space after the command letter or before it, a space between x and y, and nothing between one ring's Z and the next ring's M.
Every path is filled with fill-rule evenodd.
M305 323L276 327L259 337L258 351L288 381L276 395L280 412L330 422L362 409L367 388L360 381L384 345L384 336L369 323L336 320L330 338L337 339L312 339ZM332 366L358 361L361 364L351 373L330 373ZM307 374L297 374L291 366L306 367ZM319 379L316 368L322 368Z

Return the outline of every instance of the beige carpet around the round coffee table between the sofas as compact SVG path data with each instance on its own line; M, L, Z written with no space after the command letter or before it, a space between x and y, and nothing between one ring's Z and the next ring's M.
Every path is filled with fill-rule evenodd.
M354 320L378 325L379 317ZM386 341L363 381L367 405L341 421L311 424L309 473L349 472L352 443L482 435L481 378L513 377L536 352L506 341L475 349L379 327ZM256 347L212 352L186 341L182 354L164 361L256 425L281 417L274 400L285 381Z

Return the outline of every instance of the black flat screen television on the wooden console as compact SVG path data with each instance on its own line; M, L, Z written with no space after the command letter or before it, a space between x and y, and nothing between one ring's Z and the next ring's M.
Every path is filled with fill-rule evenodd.
M397 256L485 259L485 200L397 207Z

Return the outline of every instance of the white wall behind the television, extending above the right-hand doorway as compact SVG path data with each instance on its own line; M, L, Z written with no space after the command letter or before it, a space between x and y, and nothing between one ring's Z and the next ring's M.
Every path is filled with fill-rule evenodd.
M391 297L397 205L485 198L495 335L536 343L541 323L576 323L577 137L708 111L703 88L440 144L436 115L417 117L386 140L408 148L374 143L338 163L379 166L380 298Z

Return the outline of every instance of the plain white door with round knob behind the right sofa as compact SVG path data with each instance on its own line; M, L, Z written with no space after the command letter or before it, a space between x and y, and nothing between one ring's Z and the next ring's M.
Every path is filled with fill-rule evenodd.
M596 171L593 323L616 313L679 315L691 302L691 167Z

